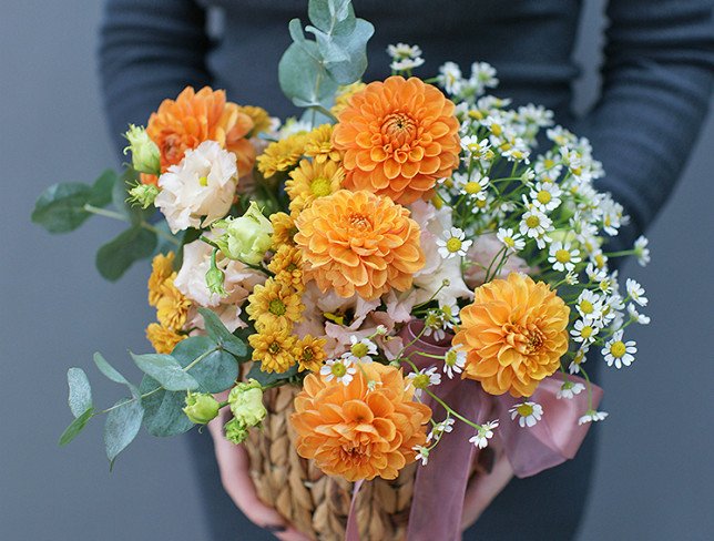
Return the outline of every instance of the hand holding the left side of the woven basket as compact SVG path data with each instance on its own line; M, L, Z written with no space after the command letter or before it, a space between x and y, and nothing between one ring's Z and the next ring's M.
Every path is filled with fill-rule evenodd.
M275 509L266 506L258 498L248 473L247 452L243 446L231 443L223 436L223 425L230 418L231 411L223 408L218 417L208 423L223 488L243 514L255 524L272 532L280 541L309 541L308 537L297 531Z

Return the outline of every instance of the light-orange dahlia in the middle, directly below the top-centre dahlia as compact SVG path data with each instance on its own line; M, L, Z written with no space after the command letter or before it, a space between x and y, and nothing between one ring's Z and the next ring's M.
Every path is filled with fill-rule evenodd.
M390 288L411 287L424 267L419 225L409 211L371 192L339 192L319 197L295 223L306 277L341 297L374 299Z

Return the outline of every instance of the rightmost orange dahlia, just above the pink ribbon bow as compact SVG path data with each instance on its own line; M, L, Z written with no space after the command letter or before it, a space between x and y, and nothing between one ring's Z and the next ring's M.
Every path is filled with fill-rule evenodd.
M455 346L467 351L463 377L491 395L530 396L568 351L570 308L543 282L511 273L475 292Z

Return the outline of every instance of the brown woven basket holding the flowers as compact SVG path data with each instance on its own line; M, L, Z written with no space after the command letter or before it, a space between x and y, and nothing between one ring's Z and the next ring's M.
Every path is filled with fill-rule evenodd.
M297 387L284 386L265 392L268 415L263 429L252 430L245 446L251 476L258 497L298 530L315 540L341 541L354 483L324 474L312 460L297 455L288 417L298 391ZM377 478L363 486L357 499L360 539L405 538L415 472L412 463L392 481Z

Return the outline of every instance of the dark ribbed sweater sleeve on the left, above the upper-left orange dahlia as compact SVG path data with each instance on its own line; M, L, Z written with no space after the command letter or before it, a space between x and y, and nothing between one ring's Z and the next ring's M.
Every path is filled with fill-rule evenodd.
M162 100L210 84L205 10L194 0L105 0L100 31L104 109L116 147Z

